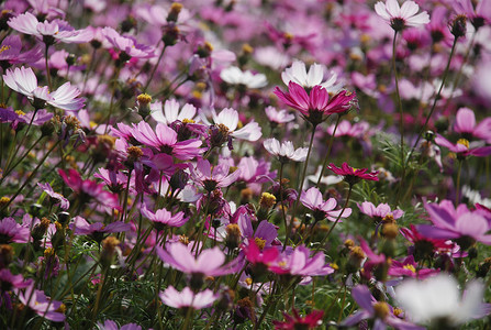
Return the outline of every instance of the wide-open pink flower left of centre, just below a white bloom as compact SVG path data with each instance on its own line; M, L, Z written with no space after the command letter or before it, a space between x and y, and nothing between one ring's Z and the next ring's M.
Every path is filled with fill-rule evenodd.
M200 150L202 142L199 139L178 142L176 131L161 123L154 131L148 123L141 121L137 125L133 124L132 134L136 141L181 161L192 160L204 151Z

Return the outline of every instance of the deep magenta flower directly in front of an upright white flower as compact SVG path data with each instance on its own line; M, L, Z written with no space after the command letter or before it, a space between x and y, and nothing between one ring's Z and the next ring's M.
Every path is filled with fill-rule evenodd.
M299 110L302 117L314 127L327 119L333 113L346 112L354 106L355 92L342 90L330 97L328 91L320 85L315 85L310 92L297 82L288 84L288 92L279 87L275 88L275 95L287 106Z

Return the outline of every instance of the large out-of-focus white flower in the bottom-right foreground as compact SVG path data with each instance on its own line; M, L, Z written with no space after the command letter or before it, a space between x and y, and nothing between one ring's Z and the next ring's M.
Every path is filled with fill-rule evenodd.
M411 320L417 323L445 321L450 327L489 314L489 307L482 304L483 292L483 284L473 280L461 297L457 280L439 274L425 280L408 279L395 288L395 296Z

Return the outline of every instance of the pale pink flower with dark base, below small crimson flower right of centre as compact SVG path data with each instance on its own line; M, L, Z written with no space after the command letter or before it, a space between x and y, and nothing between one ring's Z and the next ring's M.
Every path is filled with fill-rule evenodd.
M351 209L345 208L344 210L334 210L334 208L337 206L337 201L334 198L330 198L327 200L322 199L321 191L312 187L306 191L302 191L302 195L300 195L300 201L308 208L311 209L313 212L313 217L315 221L322 221L324 219L328 219L330 221L336 221L336 219L339 218L348 218L351 216ZM339 219L338 222L342 222L343 220Z

